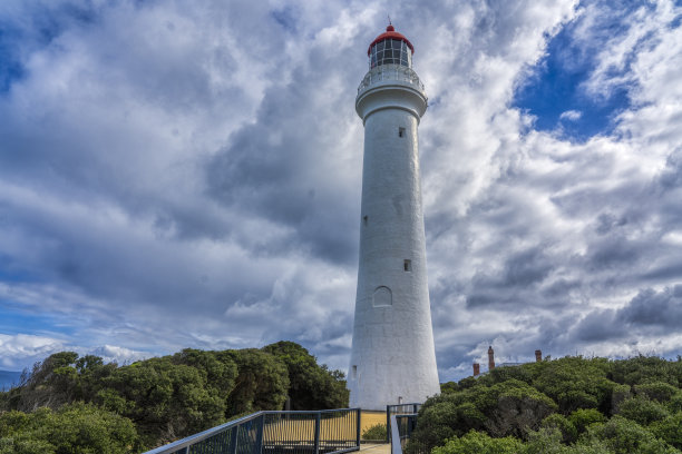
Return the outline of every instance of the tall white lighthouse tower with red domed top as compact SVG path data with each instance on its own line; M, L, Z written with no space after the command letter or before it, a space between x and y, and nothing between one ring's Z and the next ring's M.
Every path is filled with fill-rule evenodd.
M355 111L364 124L360 264L348 376L351 407L440 392L427 286L417 127L426 112L415 48L392 26L369 47Z

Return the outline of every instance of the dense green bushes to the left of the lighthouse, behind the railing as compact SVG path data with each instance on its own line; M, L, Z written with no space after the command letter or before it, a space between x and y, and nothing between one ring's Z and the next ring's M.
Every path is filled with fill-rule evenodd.
M22 382L21 386L0 393L0 433L6 434L10 428L12 433L21 433L21 436L11 435L11 440L2 435L0 454L124 452L89 447L64 451L57 445L52 448L50 443L58 437L45 438L47 428L29 427L32 418L40 415L64 424L77 421L78 413L95 415L95 422L108 421L106 417L114 415L134 424L135 445L144 450L213 427L236 415L282 409L288 394L310 396L308 401L292 398L300 409L348 405L343 374L318 365L314 356L293 343L222 352L188 348L120 367L115 363L105 364L98 356L79 357L74 352L61 352L37 363ZM311 407L305 408L306 405ZM71 413L62 415L68 408ZM28 428L19 431L17 424ZM92 428L94 434L106 433L103 431ZM66 428L62 432L65 436L69 433ZM87 438L85 433L79 436Z

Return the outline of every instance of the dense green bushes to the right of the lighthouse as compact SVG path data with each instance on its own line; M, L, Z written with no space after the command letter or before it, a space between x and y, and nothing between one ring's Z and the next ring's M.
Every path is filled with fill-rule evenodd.
M643 356L498 367L441 385L412 440L442 453L468 452L465 438L478 443L474 452L495 452L487 441L507 436L525 454L680 453L680 383L682 361Z

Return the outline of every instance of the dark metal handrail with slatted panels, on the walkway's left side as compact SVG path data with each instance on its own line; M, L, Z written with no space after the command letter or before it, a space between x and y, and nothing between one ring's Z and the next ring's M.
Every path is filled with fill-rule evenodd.
M323 415L338 413L343 417L354 413L355 414L355 426L354 427L345 427L354 431L354 440L349 440L350 437L343 437L341 434L337 433L335 435L340 435L337 440L321 440L321 421ZM313 422L314 421L314 432L312 440L289 440L284 441L284 437L275 441L269 441L267 443L264 441L265 427L266 425L277 424L277 420L274 422L266 422L269 416L283 416L289 420L292 418L295 421L302 422ZM296 418L301 416L311 416L309 418ZM313 420L314 417L314 420ZM283 421L283 420L282 420ZM251 423L255 422L256 427L252 427ZM249 427L245 427L249 425ZM246 431L252 431L255 428L255 434L243 434L240 437L240 428L245 428ZM344 427L340 424L334 424L333 428L338 431L342 431ZM255 435L255 440L254 436ZM300 435L300 434L299 434ZM213 440L212 438L216 438ZM294 435L295 437L295 435ZM220 438L220 440L218 440ZM242 442L246 441L247 445L244 446L247 453L251 454L260 454L263 452L263 446L267 447L276 447L279 445L282 446L299 446L312 448L314 454L320 453L320 447L324 448L324 453L327 454L341 454L350 451L359 451L360 450L360 408L339 408L339 409L321 409L314 412L306 411L291 411L291 412L273 412L273 411L264 411L253 413L251 415L241 417L235 421L231 421L228 423L222 424L220 426L210 428L204 432L199 432L198 434L191 435L186 438L178 440L176 442L169 443L164 446L159 446L152 451L147 451L145 454L189 454L191 448L196 446L197 444L204 442L211 444L210 446L196 446L198 450L192 450L192 452L201 452L206 454L217 454L217 453L227 453L227 454L236 454L237 450L243 445L240 443L240 438ZM279 443L279 444L277 444ZM305 450L310 451L310 450ZM244 452L244 448L238 451L240 454Z

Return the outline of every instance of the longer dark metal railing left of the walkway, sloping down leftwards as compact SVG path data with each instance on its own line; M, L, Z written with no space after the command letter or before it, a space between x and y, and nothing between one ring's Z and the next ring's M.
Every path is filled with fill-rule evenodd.
M145 454L341 454L360 450L360 408L259 412Z

